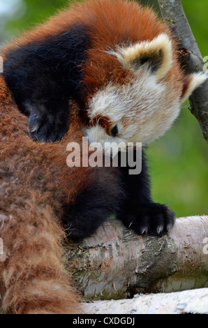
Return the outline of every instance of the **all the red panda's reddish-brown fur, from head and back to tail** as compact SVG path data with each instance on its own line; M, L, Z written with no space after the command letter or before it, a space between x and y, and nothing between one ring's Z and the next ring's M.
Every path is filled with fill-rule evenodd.
M107 26L106 15L108 22L112 22ZM152 10L140 8L137 3L85 1L70 9L70 13L66 9L43 26L25 33L8 45L8 49L58 35L75 23L87 25L92 42L84 68L86 101L94 88L105 87L107 80L124 84L133 74L103 50L124 40L128 44L152 40L160 33L170 35ZM174 49L176 46L173 41ZM164 80L168 80L170 89L181 91L183 77L174 51L172 68ZM70 131L59 144L53 145L36 144L29 139L27 118L17 111L1 76L0 110L0 219L3 220L0 237L5 251L0 255L3 312L76 313L80 311L80 298L70 287L64 269L61 204L68 202L70 206L77 193L91 179L96 179L96 168L69 169L66 165L68 142L82 142L76 106L71 110Z

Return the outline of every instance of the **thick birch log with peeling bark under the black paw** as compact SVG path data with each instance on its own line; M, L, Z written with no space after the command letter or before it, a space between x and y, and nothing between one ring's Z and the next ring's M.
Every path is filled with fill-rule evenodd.
M204 288L206 237L208 216L178 218L162 237L140 236L111 218L92 237L68 246L68 269L86 299Z

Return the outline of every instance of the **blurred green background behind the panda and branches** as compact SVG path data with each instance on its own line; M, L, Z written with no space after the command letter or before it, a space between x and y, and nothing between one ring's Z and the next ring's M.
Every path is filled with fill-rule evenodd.
M0 43L43 22L67 3L67 0L0 0ZM157 10L156 0L148 3ZM182 0L182 3L202 55L208 56L208 1ZM149 146L148 154L154 200L169 204L178 217L208 214L207 144L198 121L188 110L188 102L172 129Z

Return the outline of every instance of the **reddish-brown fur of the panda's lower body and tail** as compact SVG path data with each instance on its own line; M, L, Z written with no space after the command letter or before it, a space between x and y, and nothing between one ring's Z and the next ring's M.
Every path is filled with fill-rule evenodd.
M97 171L66 165L66 145L81 143L82 138L75 105L64 140L37 144L29 139L27 118L17 111L2 77L0 102L3 312L77 313L79 297L64 269L61 205L70 206L77 193L96 179Z

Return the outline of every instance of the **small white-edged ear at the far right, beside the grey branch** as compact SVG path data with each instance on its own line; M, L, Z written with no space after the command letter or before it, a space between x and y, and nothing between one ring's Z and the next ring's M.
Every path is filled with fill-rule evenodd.
M193 73L184 76L184 88L181 94L181 103L191 96L192 92L200 87L207 80L208 75L205 73Z

